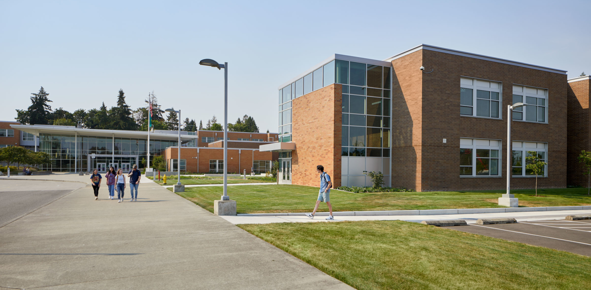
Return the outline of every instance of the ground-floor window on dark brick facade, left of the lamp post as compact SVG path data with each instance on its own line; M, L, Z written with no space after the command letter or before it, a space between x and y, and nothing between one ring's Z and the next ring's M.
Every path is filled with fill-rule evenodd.
M460 139L460 176L499 176L501 141Z

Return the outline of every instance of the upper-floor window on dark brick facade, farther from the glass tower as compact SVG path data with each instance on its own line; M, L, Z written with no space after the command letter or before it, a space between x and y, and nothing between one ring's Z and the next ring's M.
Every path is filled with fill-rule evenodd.
M513 110L513 119L547 123L547 99L548 90L513 86L513 103L527 104Z

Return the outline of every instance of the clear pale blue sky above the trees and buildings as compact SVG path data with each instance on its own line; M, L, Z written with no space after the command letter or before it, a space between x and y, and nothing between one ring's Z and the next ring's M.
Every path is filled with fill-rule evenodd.
M277 87L330 56L383 60L431 44L591 73L591 1L0 0L0 120L45 87L53 108L134 109L154 91L183 119L245 114L277 132Z

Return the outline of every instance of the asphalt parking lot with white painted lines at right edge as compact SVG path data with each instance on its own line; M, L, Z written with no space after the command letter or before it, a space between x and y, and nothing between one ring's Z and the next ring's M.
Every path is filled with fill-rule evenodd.
M591 220L526 220L513 224L469 224L448 229L591 257Z

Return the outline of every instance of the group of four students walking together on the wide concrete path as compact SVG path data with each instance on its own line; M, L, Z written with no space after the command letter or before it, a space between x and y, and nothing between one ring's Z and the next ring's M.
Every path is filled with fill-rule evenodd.
M131 188L131 200L129 201L138 201L139 179L141 178L141 172L138 170L138 165L134 164L134 167L129 171L127 177L129 177L129 188ZM121 203L126 188L123 170L119 169L115 172L115 168L110 167L105 178L107 179L107 187L109 188L109 199L115 199L115 190L117 190L118 203ZM99 188L103 177L99 174L98 170L95 169L95 171L92 172L92 175L90 175L90 180L92 180L92 188L95 190L95 200L98 200Z

